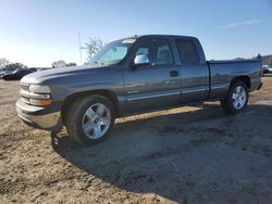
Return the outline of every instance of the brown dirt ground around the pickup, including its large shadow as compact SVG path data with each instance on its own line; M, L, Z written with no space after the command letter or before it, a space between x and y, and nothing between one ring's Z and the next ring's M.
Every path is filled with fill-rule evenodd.
M272 203L272 77L238 115L219 103L116 120L75 145L24 125L0 81L0 203Z

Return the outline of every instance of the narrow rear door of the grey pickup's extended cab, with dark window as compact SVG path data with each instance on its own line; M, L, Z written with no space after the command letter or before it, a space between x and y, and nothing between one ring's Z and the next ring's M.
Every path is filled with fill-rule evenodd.
M182 103L195 103L208 99L209 68L201 62L199 42L194 39L176 39L182 80Z

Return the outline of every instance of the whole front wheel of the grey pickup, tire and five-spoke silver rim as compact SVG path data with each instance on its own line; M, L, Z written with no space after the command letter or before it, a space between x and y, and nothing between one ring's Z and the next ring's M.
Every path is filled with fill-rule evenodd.
M76 100L66 115L70 137L82 144L95 144L104 140L114 123L112 103L102 95Z

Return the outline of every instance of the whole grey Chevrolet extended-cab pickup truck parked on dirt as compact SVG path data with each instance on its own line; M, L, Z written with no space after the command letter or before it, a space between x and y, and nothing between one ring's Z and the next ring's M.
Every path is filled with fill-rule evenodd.
M17 115L79 143L97 143L114 119L219 100L238 113L261 88L261 62L206 61L195 37L147 35L108 43L89 65L44 71L21 80Z

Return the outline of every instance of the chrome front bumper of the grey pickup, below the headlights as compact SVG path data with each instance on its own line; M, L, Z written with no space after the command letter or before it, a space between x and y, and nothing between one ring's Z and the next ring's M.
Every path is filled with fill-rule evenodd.
M62 129L60 112L48 113L46 107L28 105L21 99L16 102L16 111L18 117L29 126L48 131Z

